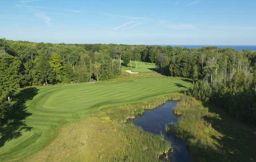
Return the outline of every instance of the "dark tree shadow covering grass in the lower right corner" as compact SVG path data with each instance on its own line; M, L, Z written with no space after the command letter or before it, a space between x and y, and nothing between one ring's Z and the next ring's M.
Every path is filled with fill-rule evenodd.
M203 116L204 120L209 122L216 131L222 134L222 137L212 137L219 144L223 161L256 161L256 128L249 124L242 123L228 116L228 114L210 104L205 104L209 112L219 115L219 118Z

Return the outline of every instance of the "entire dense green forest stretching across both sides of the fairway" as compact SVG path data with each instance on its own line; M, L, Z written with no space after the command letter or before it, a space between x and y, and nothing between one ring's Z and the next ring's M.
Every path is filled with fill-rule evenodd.
M166 76L191 78L186 93L256 124L256 52L232 48L188 49L118 44L52 44L0 39L0 118L18 88L108 80L121 60L137 68L152 62ZM135 62L132 65L131 61Z

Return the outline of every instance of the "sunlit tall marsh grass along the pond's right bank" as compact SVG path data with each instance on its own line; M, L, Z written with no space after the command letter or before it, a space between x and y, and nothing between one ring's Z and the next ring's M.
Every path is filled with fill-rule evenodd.
M221 154L219 148L222 146L218 140L212 138L219 133L205 120L206 117L219 120L219 116L208 112L208 108L190 96L181 96L180 102L174 108L174 114L180 116L178 122L167 124L166 133L172 132L178 138L186 140L192 161L220 160L216 153Z

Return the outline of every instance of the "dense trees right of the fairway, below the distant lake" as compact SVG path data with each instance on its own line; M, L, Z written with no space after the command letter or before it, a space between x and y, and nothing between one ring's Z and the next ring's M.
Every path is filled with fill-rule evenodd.
M154 61L159 72L194 80L186 94L256 124L256 52L161 47L157 53Z

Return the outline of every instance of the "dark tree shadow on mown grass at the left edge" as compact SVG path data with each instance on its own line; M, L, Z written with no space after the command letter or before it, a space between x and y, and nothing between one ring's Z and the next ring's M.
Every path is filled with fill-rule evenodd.
M37 88L27 88L13 96L12 101L15 103L0 126L0 147L4 146L7 141L22 136L22 132L32 129L24 121L31 115L27 112L26 102L32 100L37 93Z

